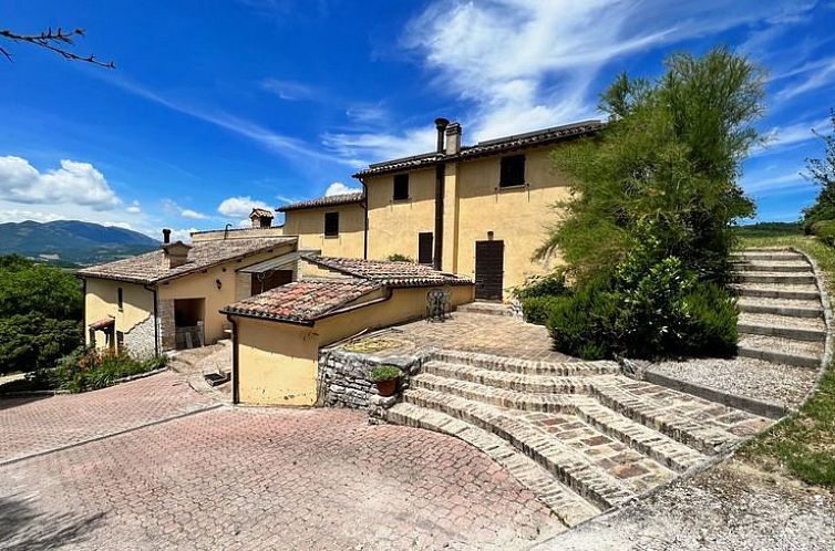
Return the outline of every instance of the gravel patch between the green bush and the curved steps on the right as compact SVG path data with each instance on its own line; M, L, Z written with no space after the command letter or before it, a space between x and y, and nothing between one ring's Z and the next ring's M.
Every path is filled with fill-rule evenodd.
M816 370L749 357L661 362L649 365L647 371L720 392L786 406L794 406L801 402L817 380Z

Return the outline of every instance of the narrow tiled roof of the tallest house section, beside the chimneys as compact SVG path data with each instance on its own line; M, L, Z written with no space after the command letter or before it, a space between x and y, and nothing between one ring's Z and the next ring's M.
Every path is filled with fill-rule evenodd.
M372 176L377 174L410 170L423 166L433 166L440 162L454 163L458 160L484 157L487 155L497 155L501 153L523 149L526 147L548 145L565 139L571 139L588 134L594 134L596 132L599 132L604 126L605 124L600 121L584 121L581 123L554 126L551 128L544 128L542 131L516 134L513 136L505 136L496 139L488 139L486 142L480 142L475 145L463 146L461 148L461 152L455 155L444 155L442 153L424 153L422 155L415 155L413 157L404 157L385 160L383 163L374 163L372 165L369 165L368 168L354 174L353 177L362 178L363 176Z

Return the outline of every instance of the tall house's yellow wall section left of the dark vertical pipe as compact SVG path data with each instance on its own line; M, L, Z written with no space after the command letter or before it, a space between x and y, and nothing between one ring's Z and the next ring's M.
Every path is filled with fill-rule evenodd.
M368 178L369 259L391 254L418 259L418 233L435 225L435 169L409 173L409 199L395 201L394 175Z

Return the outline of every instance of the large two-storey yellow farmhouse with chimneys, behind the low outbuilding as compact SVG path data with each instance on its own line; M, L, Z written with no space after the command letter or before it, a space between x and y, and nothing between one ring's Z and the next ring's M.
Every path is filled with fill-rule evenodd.
M597 133L587 121L462 146L462 127L435 121L433 153L354 174L363 193L279 207L285 233L324 254L383 260L401 254L475 280L478 299L502 299L553 267L534 251L568 197L554 147Z

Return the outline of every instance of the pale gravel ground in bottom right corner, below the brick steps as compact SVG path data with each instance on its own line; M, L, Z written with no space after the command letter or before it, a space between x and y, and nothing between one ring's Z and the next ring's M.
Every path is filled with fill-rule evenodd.
M835 493L729 461L536 551L832 551Z

